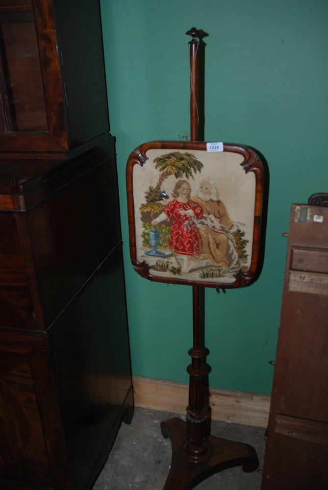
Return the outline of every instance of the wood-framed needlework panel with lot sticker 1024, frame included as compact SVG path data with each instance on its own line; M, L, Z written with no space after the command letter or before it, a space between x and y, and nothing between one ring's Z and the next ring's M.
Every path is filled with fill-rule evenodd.
M130 254L151 281L235 288L258 267L263 169L244 146L145 143L126 168Z

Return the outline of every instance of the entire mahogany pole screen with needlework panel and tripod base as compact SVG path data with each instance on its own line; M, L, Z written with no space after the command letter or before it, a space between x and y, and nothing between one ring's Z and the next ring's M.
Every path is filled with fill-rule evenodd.
M190 41L190 132L199 138L198 48ZM188 366L186 423L161 423L172 443L164 490L190 490L231 466L254 471L256 451L248 444L210 435L201 310L203 287L236 288L259 269L263 169L256 153L241 145L200 141L154 141L137 147L126 167L130 254L146 279L193 289L193 347Z

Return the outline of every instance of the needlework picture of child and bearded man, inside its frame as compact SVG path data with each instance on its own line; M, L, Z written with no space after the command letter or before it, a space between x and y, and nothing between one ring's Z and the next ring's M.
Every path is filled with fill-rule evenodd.
M154 276L234 282L252 259L255 175L244 157L158 148L146 156L133 167L137 261Z

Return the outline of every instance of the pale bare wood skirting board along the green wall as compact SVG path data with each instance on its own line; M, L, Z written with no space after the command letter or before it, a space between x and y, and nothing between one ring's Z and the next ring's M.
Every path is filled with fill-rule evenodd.
M161 379L133 376L136 407L185 414L189 386ZM209 389L209 405L213 420L225 420L254 427L267 427L270 396L232 390Z

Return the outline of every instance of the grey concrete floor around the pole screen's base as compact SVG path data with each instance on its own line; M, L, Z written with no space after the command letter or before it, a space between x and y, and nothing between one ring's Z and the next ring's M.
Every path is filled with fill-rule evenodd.
M171 442L160 422L181 417L135 408L131 425L122 423L116 441L93 490L162 490L171 464ZM212 420L211 435L251 444L263 467L265 429ZM241 467L226 469L200 483L196 490L260 490L261 474ZM173 489L175 490L175 489Z

